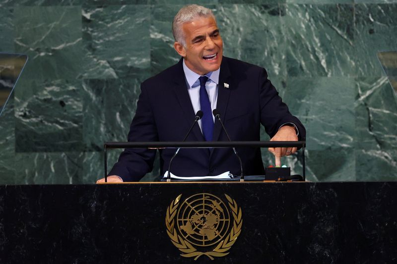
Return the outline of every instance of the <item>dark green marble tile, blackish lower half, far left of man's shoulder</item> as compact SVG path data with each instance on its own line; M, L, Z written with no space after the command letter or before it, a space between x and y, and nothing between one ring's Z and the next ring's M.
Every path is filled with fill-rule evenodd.
M15 90L15 151L83 151L81 83L78 80L21 81Z

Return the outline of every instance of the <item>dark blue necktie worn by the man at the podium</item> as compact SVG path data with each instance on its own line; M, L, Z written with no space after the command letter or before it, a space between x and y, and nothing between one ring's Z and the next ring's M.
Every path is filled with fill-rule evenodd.
M200 80L200 109L203 112L201 118L202 134L206 141L212 141L212 134L214 132L214 120L212 119L212 109L209 103L207 90L205 90L205 83L208 80L207 76L201 76Z

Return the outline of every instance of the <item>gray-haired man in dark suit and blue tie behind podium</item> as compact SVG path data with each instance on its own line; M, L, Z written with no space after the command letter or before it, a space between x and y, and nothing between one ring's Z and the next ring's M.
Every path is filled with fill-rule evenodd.
M174 18L174 48L182 58L174 66L141 84L129 141L182 141L198 110L204 112L187 141L227 141L212 110L218 109L233 141L260 140L260 126L273 141L305 140L305 128L288 111L267 79L265 69L223 57L223 42L210 9L183 7ZM269 149L276 157L296 148ZM108 181L138 181L152 170L155 150L126 149ZM174 149L160 150L161 174ZM264 174L260 149L240 148L245 175ZM178 176L240 173L231 149L182 149L171 172ZM103 182L103 179L98 180Z

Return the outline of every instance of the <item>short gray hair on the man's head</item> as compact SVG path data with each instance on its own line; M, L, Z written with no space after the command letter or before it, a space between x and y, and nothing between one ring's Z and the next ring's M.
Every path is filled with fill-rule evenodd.
M184 23L192 21L197 17L208 17L208 16L212 16L213 19L215 19L212 10L204 6L197 4L190 4L182 7L178 11L176 16L174 17L174 21L172 22L172 35L174 35L175 41L182 44L183 47L186 47L185 36L182 30L182 25Z

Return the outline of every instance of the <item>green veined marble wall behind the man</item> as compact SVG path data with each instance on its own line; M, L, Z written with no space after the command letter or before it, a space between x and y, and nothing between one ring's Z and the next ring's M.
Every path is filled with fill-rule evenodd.
M171 21L186 3L0 0L0 52L29 55L0 116L0 183L100 177L103 142L126 140L140 82L178 61ZM214 9L224 54L265 67L305 124L308 180L396 179L397 73L376 53L397 50L397 0L198 3ZM299 173L300 158L284 163Z

